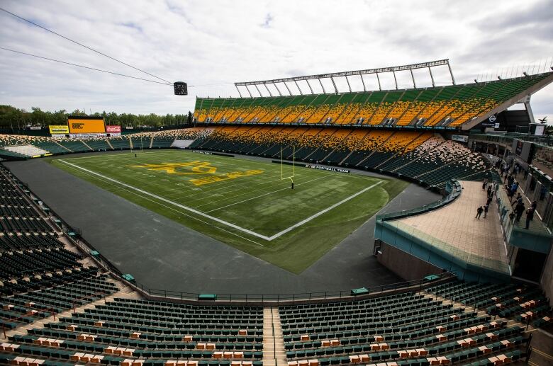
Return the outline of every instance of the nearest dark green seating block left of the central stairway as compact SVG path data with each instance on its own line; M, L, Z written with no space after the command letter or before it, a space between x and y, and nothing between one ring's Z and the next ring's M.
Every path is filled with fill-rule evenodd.
M0 349L0 357L41 356L46 362L59 359L108 365L167 365L172 360L186 360L188 365L261 366L262 326L262 308L116 297L51 321L44 328L10 336L3 344L4 352L6 344L11 345L9 354Z

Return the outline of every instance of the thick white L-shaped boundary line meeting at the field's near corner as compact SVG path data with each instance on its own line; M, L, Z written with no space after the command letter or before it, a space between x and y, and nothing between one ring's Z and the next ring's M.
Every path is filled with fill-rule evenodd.
M238 225L235 225L235 224L232 224L230 222L226 222L225 220L222 220L222 219L218 219L217 217L213 217L211 215L206 215L205 213L203 212L200 212L198 210L194 210L193 208L191 207L188 207L188 206L185 206L185 205L181 205L180 203L177 203L177 202L174 202L172 200L167 200L167 198L163 198L163 197L160 197L159 195L155 195L153 193L150 193L150 192L147 192L146 190L142 190L140 188L136 188L134 187L133 185L129 185L129 184L126 184L126 183L123 183L121 181L117 181L116 179L113 179L113 178L109 178L107 176L104 176L100 173L96 173L95 171L91 171L89 169L86 169L86 168L83 168L82 166L78 166L76 164L72 164L72 163L69 163L63 159L59 159L62 163L64 164L67 164L67 165L70 165L70 166L73 166L74 168L78 168L78 169L81 169L82 171L86 171L87 173L91 173L91 174L94 174L95 176L99 176L101 178L104 178L104 179L107 179L108 181L112 181L114 183L117 183L119 185L123 185L123 187L127 187L127 188L130 188L130 189L133 189L133 190L136 190L137 192L140 192L140 193L143 193L144 195L149 195L150 197L153 197L157 200L160 200L160 201L163 201L163 202L167 202L167 203L170 203L171 205L174 205L174 206L177 206L177 207L180 207L181 209L184 209L184 210L187 210L187 211L190 211L190 212L194 212L196 215L200 215L202 217L207 217L208 219L212 219L213 221L215 222L218 222L220 224L223 224L223 225L227 225L228 227L232 227L234 229L237 229L237 230L240 230L240 231L243 231L247 234L250 234L252 236L257 236L258 238L261 238L261 239L264 239L264 240L267 240L267 241L272 241L274 239L277 239L279 236L282 236L284 234L286 234L287 232L291 231L291 230L294 230L296 229L296 227L300 227L301 225L303 224L306 224L307 222L310 222L312 219L315 219L315 217L319 217L320 215L323 215L325 212L328 212L330 210L332 210L333 208L335 207L338 207L340 205L342 205L342 203L345 203L349 200L352 200L352 198L356 198L358 195L364 193L364 192L367 192L367 190L369 189L372 189L374 187L376 187L376 185L379 185L380 183L382 183L382 181L378 181L377 183L374 183L373 185L367 187L367 188L364 188L362 190L359 190L359 192L357 193L354 193L353 195L350 195L349 197L347 198L344 198L343 200L341 200L340 202L337 202L335 203L334 205L330 206L330 207L327 207L325 208L324 210L320 211L320 212L317 212L315 215L311 215L310 217L306 218L306 219L303 219L301 220L301 222L298 222L297 224L294 224L292 225L291 227L287 228L287 229L284 229L280 232L278 232L277 234L274 234L272 236L265 236L265 235L262 235L262 234L258 234L257 232L255 231L252 231L252 230L248 230L248 229L244 229L243 227L239 227Z

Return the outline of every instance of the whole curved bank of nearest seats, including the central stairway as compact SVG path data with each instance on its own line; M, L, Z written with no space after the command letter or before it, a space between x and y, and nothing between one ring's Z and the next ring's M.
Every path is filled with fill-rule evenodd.
M503 293L511 287L521 296L534 293L517 285L449 282L418 293L277 309L147 301L130 290L132 296L81 306L45 322L43 328L27 326L25 333L12 332L1 344L0 361L129 366L499 365L525 357L523 324L493 319L458 300L471 301L475 295ZM272 347L283 350L269 353Z

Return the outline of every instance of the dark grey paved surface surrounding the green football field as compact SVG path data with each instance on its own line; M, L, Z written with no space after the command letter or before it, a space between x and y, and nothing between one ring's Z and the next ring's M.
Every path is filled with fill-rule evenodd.
M121 152L125 151L72 156ZM48 164L46 159L3 164L67 224L81 229L84 239L122 273L133 274L149 288L210 294L299 294L349 292L401 281L372 255L375 216L296 275L135 205ZM357 173L380 177L363 170ZM410 184L379 213L410 210L439 198Z

